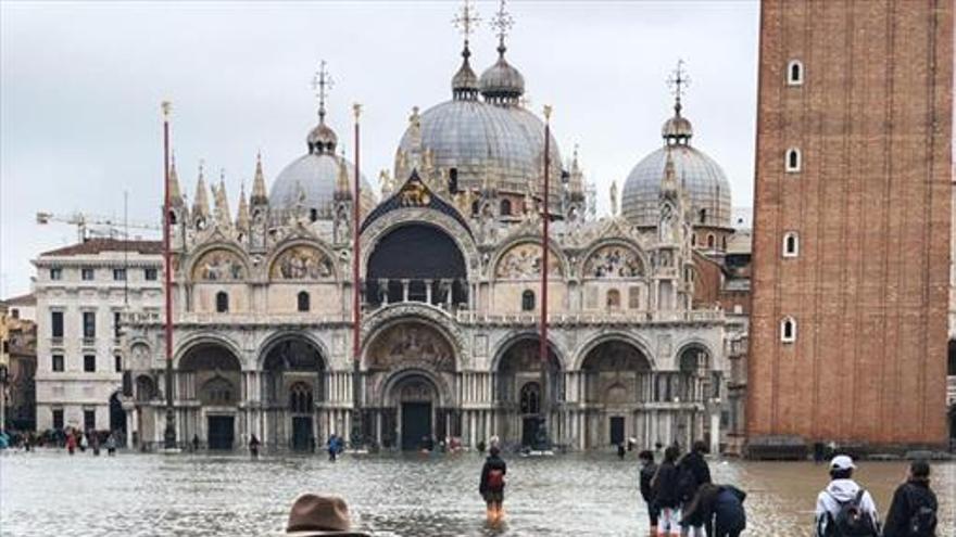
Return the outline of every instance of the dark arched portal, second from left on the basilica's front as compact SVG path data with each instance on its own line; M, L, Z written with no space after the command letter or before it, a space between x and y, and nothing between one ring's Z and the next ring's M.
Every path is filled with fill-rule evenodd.
M316 402L326 400L326 366L319 348L289 335L273 342L262 360L263 438L266 446L312 450L328 431Z

